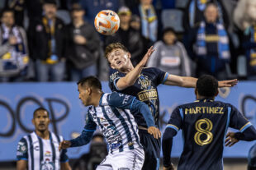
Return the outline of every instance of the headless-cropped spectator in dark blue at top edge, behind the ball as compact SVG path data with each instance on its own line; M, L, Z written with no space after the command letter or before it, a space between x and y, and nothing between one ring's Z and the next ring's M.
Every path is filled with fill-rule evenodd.
M119 0L80 0L85 12L85 20L91 25L94 25L95 16L99 11L112 10L117 11L119 6Z

